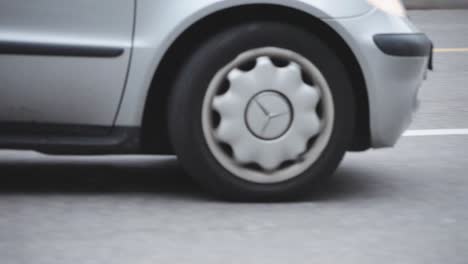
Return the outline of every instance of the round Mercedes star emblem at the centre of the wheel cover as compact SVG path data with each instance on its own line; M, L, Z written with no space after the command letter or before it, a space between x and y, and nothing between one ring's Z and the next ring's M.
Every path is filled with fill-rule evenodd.
M274 140L289 130L293 113L284 95L266 91L250 100L245 116L247 127L253 135L263 140Z

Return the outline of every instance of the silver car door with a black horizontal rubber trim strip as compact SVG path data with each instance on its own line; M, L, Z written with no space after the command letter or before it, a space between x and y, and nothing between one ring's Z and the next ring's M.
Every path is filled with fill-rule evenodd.
M0 124L112 126L134 0L0 0Z

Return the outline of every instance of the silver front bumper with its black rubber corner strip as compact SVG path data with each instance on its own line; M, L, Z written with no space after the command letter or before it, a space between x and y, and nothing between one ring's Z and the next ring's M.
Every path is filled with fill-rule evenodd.
M395 145L419 106L432 42L408 19L379 10L327 22L351 47L364 74L371 147Z

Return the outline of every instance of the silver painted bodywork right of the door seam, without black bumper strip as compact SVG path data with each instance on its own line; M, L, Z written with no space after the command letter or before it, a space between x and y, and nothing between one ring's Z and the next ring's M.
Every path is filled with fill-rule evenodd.
M234 6L265 3L305 11L321 18L351 47L363 69L370 97L371 145L393 146L409 125L417 92L427 63L426 57L405 58L383 54L373 36L379 33L420 32L406 18L388 15L366 1L197 1L196 4L138 2L135 50L129 85L117 125L140 125L153 74L176 38L204 17ZM183 7L183 8L181 8ZM352 8L350 8L352 7ZM160 16L154 16L160 10ZM177 10L177 11L174 11ZM392 74L388 74L391 72ZM401 75L401 76L400 76ZM395 76L400 76L395 78ZM393 78L393 79L392 79ZM158 89L157 84L155 89ZM400 100L401 99L401 100Z

